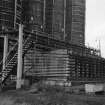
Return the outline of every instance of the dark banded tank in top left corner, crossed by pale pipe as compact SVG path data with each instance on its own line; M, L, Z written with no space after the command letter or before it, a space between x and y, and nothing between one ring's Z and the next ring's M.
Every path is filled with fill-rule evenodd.
M20 21L20 0L0 0L0 31L18 28Z

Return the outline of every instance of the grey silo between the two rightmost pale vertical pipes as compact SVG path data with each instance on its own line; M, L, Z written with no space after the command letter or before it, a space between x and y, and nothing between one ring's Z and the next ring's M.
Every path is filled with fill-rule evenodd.
M64 40L64 0L46 0L45 31Z

